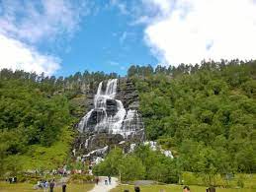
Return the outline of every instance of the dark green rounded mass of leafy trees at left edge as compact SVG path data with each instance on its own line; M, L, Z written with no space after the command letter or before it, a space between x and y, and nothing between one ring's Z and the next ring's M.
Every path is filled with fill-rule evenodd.
M43 96L33 85L21 81L2 81L0 90L0 128L7 152L22 153L27 145L50 146L61 127L69 122L67 100L63 96Z

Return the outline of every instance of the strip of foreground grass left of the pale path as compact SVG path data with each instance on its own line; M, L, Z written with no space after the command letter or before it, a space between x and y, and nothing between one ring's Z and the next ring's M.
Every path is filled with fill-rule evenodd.
M0 192L43 192L43 190L34 190L33 184L17 183L9 184L7 182L0 182ZM94 184L67 184L66 190L70 192L87 192L94 187ZM61 192L61 187L55 187L54 192Z

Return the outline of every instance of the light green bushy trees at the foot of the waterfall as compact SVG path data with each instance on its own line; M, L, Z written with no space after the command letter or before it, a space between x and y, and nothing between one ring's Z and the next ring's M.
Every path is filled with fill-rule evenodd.
M133 154L124 155L121 149L112 150L106 160L94 166L97 175L120 175L122 180L150 179L177 183L179 171L176 160L141 146Z

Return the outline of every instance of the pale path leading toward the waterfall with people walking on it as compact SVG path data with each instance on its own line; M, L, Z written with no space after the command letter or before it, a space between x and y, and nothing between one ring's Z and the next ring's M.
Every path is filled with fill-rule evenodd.
M108 185L105 185L105 179L108 179L108 177L100 176L98 185L95 184L94 188L89 192L108 192L118 185L118 179L116 177L111 177L111 184L108 183Z

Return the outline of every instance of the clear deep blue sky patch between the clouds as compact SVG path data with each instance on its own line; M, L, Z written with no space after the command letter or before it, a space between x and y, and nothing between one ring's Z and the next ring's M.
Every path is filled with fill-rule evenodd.
M70 49L59 50L63 68L57 74L88 69L125 75L130 64L155 65L157 60L143 40L143 28L129 23L130 18L116 7L102 8L86 17L80 30L66 43Z

